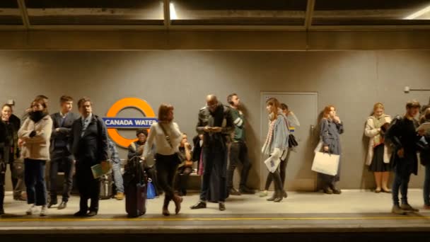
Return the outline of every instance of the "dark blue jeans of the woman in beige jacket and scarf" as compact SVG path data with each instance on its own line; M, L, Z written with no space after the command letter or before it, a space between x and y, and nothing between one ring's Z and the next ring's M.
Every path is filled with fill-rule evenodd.
M27 203L43 206L47 204L45 185L46 161L25 159L25 186L27 187Z

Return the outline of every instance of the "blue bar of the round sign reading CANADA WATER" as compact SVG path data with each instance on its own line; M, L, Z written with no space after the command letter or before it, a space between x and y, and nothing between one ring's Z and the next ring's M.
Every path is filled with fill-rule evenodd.
M108 129L149 128L153 122L158 121L156 117L103 117L102 119Z

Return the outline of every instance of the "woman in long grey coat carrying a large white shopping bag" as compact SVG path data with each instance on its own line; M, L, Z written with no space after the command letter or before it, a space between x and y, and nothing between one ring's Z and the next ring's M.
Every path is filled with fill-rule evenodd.
M324 109L324 117L320 122L320 138L322 142L322 149L330 154L341 154L340 147L340 134L344 132L342 121L336 115L336 108L328 105ZM340 194L341 190L336 188L336 183L339 181L340 175L340 162L337 167L336 175L326 175L320 173L322 180L322 189L326 194Z

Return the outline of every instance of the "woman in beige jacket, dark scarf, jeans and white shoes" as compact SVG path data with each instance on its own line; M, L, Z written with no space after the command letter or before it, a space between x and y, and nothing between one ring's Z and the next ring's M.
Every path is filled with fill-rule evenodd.
M52 119L48 115L47 103L42 98L35 99L31 108L29 117L18 131L18 137L23 140L21 155L25 163L27 202L30 204L26 214L34 214L38 210L37 206L41 206L40 216L46 216L45 164L50 159Z

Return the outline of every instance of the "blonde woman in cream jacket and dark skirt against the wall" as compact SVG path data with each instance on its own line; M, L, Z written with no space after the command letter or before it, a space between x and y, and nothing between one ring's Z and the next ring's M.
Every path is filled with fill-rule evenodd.
M391 117L384 113L384 105L375 103L373 115L367 118L364 134L369 137L366 165L368 171L375 174L376 193L391 191L388 189L388 178L390 178L390 147L384 144L384 134L390 125Z

